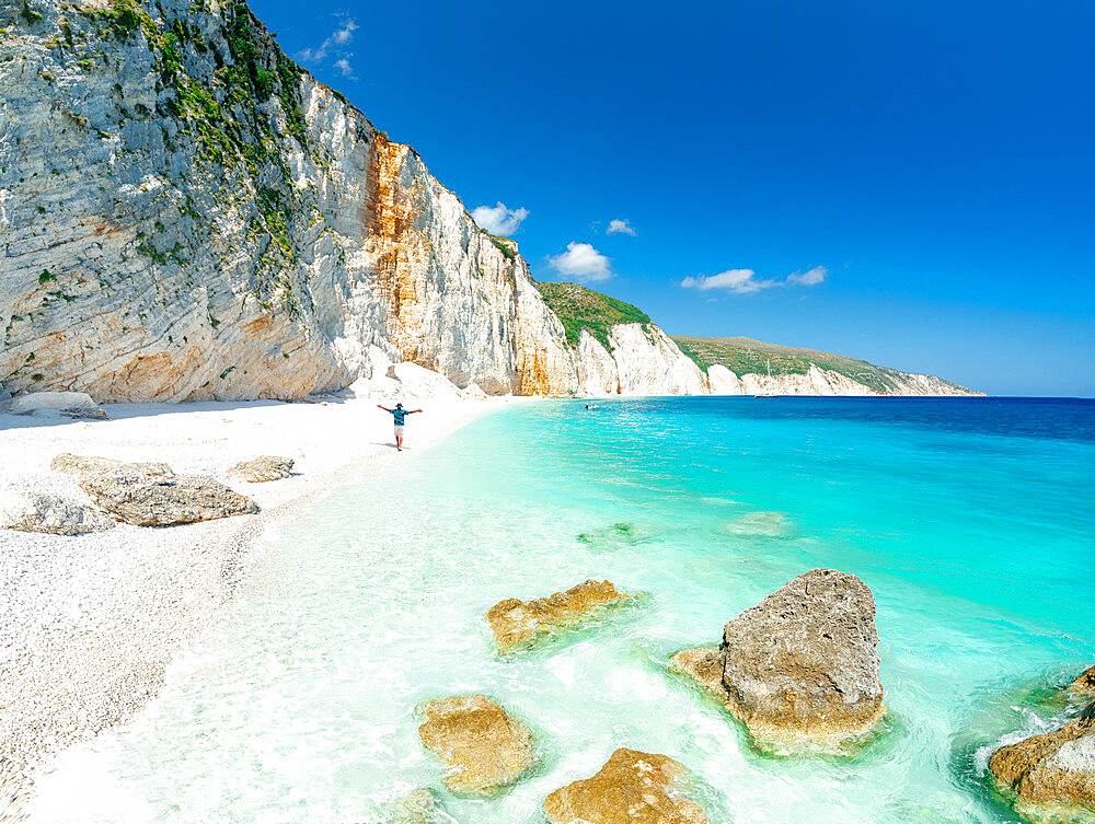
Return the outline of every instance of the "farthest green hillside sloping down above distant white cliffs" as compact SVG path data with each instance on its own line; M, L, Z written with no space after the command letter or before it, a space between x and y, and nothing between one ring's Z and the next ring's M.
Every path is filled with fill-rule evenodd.
M876 367L860 358L819 352L815 349L799 349L793 346L765 344L753 338L699 338L689 335L670 335L681 351L707 371L713 363L719 363L738 378L744 374L768 374L769 364L773 375L806 374L810 363L820 369L832 370L853 381L862 383L875 392L887 393L897 388L895 369Z

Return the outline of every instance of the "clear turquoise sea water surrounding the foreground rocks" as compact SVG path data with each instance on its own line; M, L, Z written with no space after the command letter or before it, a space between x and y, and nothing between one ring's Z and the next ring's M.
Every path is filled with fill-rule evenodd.
M1095 403L583 405L493 415L287 526L136 723L42 778L33 821L370 822L429 786L462 824L533 823L616 746L684 763L713 822L1016 821L987 755L1095 663ZM812 567L878 603L889 731L852 759L761 755L664 669ZM589 577L649 596L492 651L491 605ZM415 704L471 692L538 733L539 771L489 801L445 792L417 741Z

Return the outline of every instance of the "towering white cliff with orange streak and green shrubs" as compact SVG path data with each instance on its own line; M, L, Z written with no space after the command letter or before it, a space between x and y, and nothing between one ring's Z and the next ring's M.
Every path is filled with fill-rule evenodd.
M378 347L492 393L577 387L514 251L238 0L0 5L0 381L296 397Z

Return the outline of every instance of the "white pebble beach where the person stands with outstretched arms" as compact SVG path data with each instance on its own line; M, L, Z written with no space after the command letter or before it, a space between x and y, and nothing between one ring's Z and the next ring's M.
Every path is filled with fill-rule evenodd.
M413 460L466 423L523 401L438 390L368 386L304 403L114 404L103 421L0 413L0 492L87 502L74 478L49 469L55 455L72 452L211 475L261 508L76 536L0 530L8 602L0 615L0 822L22 819L36 769L126 723L155 697L177 654L232 603L270 527L403 457L377 403L424 406L407 425ZM260 454L293 459L292 475L262 484L226 476Z

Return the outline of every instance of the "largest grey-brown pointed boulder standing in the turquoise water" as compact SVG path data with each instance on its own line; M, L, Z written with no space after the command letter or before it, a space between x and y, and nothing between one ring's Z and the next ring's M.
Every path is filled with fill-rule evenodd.
M721 647L684 650L672 664L724 700L758 744L842 752L885 712L877 646L867 585L814 569L729 622Z

